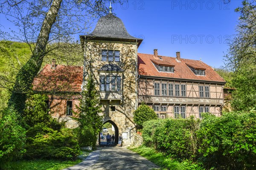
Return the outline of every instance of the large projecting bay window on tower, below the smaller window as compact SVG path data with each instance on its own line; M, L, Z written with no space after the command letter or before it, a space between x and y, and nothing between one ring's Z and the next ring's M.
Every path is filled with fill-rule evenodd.
M121 91L121 76L100 76L100 91Z

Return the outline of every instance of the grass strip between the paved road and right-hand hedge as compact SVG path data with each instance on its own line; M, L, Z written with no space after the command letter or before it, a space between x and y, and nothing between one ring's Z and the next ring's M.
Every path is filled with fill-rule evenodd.
M189 160L179 162L169 156L165 156L163 153L157 152L151 147L140 146L135 148L129 147L128 149L139 153L149 161L157 164L162 170L204 170L199 164Z

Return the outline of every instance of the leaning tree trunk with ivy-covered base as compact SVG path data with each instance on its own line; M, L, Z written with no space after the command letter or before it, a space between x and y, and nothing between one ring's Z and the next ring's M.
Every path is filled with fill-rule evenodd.
M41 68L45 56L46 45L49 40L49 34L52 25L55 23L58 11L61 7L61 2L62 0L53 0L49 11L44 18L33 54L16 76L15 85L8 102L8 109L11 113L17 113L17 116L22 116L27 93L32 87L33 79Z

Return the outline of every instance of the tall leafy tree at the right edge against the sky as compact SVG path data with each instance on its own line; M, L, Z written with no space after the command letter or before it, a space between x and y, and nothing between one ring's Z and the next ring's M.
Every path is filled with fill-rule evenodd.
M244 0L240 13L238 34L230 43L229 54L225 56L226 66L233 71L231 105L236 110L250 110L256 107L256 0Z

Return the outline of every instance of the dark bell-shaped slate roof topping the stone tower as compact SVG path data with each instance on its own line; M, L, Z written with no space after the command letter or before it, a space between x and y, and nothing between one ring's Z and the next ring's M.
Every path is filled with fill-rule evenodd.
M89 40L114 40L126 42L142 42L143 39L132 37L126 30L124 23L112 13L101 17L92 33L81 36Z

